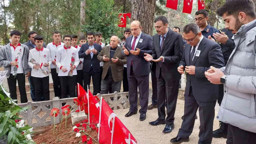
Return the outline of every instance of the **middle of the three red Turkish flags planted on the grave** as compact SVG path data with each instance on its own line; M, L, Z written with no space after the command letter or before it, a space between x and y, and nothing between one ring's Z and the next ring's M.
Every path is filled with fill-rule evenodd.
M89 111L90 111L90 124L99 124L100 119L100 104L89 90ZM88 105L86 105L88 107Z

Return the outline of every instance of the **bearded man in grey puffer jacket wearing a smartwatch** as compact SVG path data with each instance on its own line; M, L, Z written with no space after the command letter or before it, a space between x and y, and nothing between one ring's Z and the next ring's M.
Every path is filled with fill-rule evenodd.
M228 124L227 144L256 143L256 13L252 0L227 0L217 11L232 31L236 47L224 68L211 67L205 76L224 84L217 119ZM223 73L224 72L224 73Z

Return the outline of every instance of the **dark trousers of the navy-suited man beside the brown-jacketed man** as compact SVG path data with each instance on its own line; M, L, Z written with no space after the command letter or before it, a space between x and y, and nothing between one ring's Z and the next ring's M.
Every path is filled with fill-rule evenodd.
M93 84L93 95L97 95L100 93L100 72L94 73L91 67L89 73L83 73L84 77L84 90L87 92L87 85L90 89L91 77L92 77L92 84Z

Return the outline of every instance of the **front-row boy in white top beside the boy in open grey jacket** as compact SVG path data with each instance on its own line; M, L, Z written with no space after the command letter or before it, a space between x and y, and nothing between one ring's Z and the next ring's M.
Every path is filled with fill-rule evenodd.
M50 100L49 91L49 65L52 64L52 57L49 49L43 47L43 36L35 36L36 48L29 51L28 65L32 68L31 76L35 83L36 101L41 100L43 88L44 100Z

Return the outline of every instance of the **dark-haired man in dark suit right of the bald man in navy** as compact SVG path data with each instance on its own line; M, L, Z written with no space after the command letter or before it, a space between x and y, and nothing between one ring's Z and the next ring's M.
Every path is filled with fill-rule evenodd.
M145 54L144 58L156 62L158 119L149 124L154 126L166 124L163 132L170 133L174 128L174 114L181 78L177 67L182 58L183 41L179 33L168 28L168 21L164 16L155 19L154 27L157 34L153 36L153 54L152 56Z

